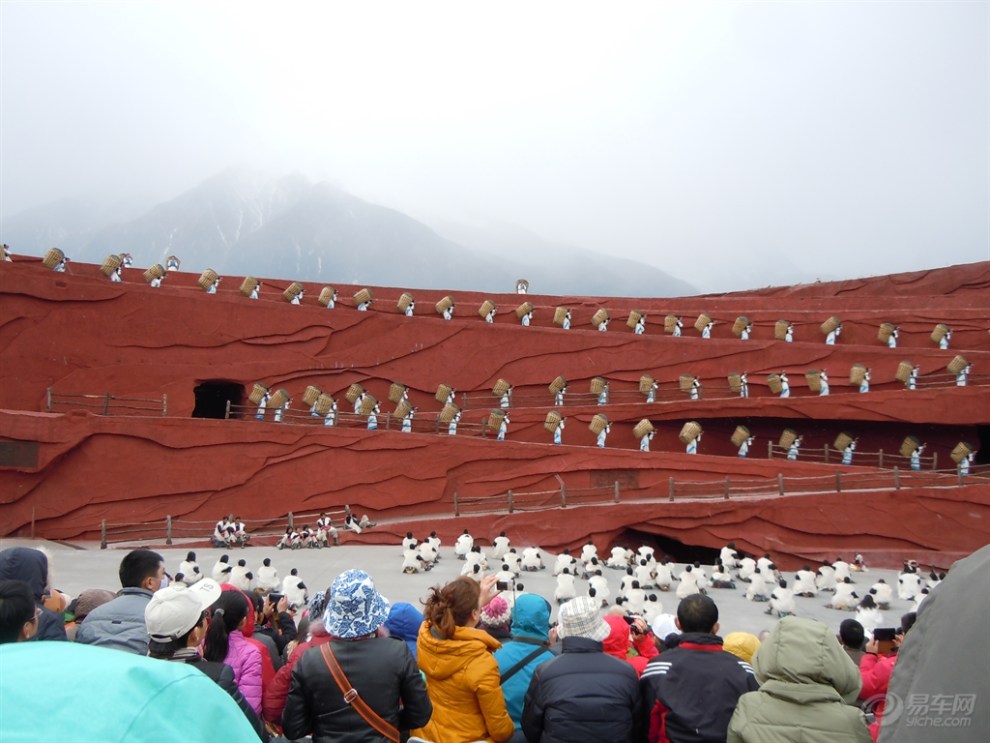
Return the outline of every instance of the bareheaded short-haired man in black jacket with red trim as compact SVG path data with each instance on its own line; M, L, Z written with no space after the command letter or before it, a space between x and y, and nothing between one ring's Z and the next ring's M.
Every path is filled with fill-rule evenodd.
M660 743L724 743L739 697L756 691L753 669L722 650L718 607L700 593L677 607L677 647L651 659L640 681Z

